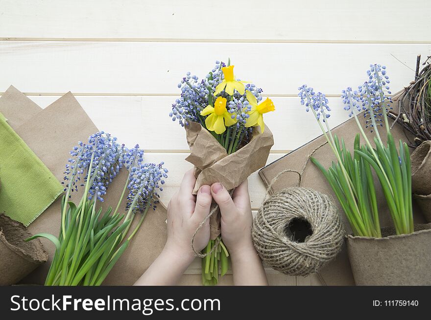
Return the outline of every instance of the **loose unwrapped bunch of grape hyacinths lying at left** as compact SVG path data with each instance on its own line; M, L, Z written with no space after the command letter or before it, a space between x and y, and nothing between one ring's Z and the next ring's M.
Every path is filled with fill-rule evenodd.
M161 185L167 178L164 163L144 163L143 154L138 145L128 149L103 131L92 134L88 143L78 142L72 149L64 172L66 194L62 199L58 238L37 234L27 239L45 237L56 246L45 285L100 285L111 271L148 210L155 210L158 191L163 190ZM97 208L122 167L130 173L114 212L111 207L104 211ZM78 185L84 188L84 193L75 204L68 200L72 192L78 191ZM119 209L126 190L127 213L123 214ZM128 235L136 216L139 221Z

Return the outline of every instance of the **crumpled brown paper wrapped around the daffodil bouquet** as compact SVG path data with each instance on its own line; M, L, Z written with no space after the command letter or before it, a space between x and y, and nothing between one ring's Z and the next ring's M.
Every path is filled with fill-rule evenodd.
M254 127L248 144L232 154L227 154L220 143L205 128L191 122L186 128L190 155L186 160L195 167L196 184L193 194L203 185L221 183L227 190L238 187L253 172L265 166L269 150L274 144L272 132ZM213 204L216 206L216 204ZM213 209L213 207L212 207ZM220 235L220 212L210 217L211 239Z

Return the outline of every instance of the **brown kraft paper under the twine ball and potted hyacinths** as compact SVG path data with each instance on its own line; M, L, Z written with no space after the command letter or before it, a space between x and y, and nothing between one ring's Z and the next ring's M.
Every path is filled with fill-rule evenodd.
M313 121L313 119L310 119ZM368 128L365 128L363 121L361 122L364 128L365 133L368 138L372 138L374 133L371 133ZM349 119L343 124L337 126L332 130L333 134L336 134L338 138L344 138L346 147L349 148L353 152L353 143L355 139L355 135L359 132L355 119ZM381 134L383 143L386 141L386 131L384 128L379 128L379 132ZM395 125L392 129L392 134L395 141L399 141L400 139L405 141L407 139L406 133L400 125ZM263 179L263 182L266 185L272 181L272 179L281 171L290 169L295 171L301 171L304 163L307 161L311 152L321 146L325 142L325 137L322 135L308 144L291 151L284 157L274 161L269 164L261 171L259 171L259 175ZM372 141L372 140L371 140ZM363 139L361 139L361 143L364 143ZM315 157L325 168L331 166L332 161L336 161L335 155L330 149L328 144L323 145L318 148L314 154ZM375 177L375 181L378 181L377 177ZM274 183L272 187L272 192L278 192L287 187L293 187L298 182L298 175L296 173L290 172L286 173L282 178L278 179L277 182ZM380 188L380 184L376 183L376 197L379 203L379 215L381 226L390 226L392 225L392 219L390 218L390 213L386 205L386 199L383 195L383 191ZM338 207L338 212L341 213L341 217L344 224L344 229L346 234L351 234L352 230L349 226L347 218L345 216L344 211L341 208L334 192L331 189L331 186L326 181L322 172L314 166L311 161L308 163L304 174L301 179L301 187L312 188L316 191L323 192L325 194L330 195L335 204ZM418 213L420 210L417 210L413 207L413 213ZM422 214L414 214L416 223L423 223L424 219ZM325 267L323 267L319 272L320 280L323 284L326 285L354 285L355 281L352 275L352 270L349 262L349 258L347 256L346 246L343 245L343 249L338 256L335 257L333 261L330 261Z

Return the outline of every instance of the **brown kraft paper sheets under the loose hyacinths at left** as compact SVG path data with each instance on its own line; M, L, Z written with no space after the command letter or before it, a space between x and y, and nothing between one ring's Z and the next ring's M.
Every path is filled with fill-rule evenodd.
M64 168L73 146L78 141L87 141L89 135L98 131L71 92L42 109L11 86L0 98L0 111L59 181L63 181ZM115 135L115 132L111 133ZM121 170L108 187L103 208L117 206L127 178L128 172ZM77 194L73 192L72 201L79 201L81 192L82 188ZM123 199L120 208L125 208L125 205L126 200ZM104 285L131 285L145 272L166 243L166 217L166 209L161 204L157 206L156 211L147 214L139 232L103 282ZM135 219L134 224L138 222L137 220L139 219ZM132 226L131 230L133 229ZM44 232L58 235L60 200L42 213L28 230L32 234ZM23 283L43 284L45 281L55 247L46 239L41 241L48 251L49 261L24 278Z

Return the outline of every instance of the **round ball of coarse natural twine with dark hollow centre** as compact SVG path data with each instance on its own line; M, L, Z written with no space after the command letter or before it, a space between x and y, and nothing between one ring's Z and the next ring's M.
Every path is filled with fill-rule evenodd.
M287 235L294 218L310 223L312 234L304 242L296 242ZM252 230L262 260L290 276L317 273L341 250L343 235L337 208L330 198L301 187L284 189L264 200Z

